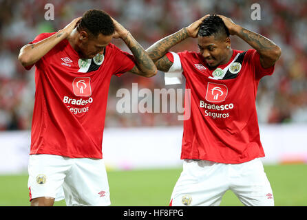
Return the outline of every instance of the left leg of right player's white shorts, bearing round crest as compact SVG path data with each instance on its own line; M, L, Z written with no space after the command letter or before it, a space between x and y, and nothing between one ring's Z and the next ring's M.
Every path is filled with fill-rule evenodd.
M228 189L225 164L186 159L170 205L219 206Z

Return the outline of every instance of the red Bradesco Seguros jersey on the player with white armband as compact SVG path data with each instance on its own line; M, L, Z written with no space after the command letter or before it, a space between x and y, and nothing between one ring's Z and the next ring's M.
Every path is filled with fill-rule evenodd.
M229 63L215 69L199 53L169 52L167 57L174 67L166 73L166 83L179 70L191 89L181 159L239 164L264 157L255 101L260 79L273 74L274 66L264 69L255 50L233 50Z

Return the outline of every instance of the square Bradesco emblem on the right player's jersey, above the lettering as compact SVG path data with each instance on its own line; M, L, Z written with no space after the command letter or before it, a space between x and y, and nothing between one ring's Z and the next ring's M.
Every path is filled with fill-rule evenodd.
M206 100L208 102L222 102L228 94L226 85L218 83L208 83Z

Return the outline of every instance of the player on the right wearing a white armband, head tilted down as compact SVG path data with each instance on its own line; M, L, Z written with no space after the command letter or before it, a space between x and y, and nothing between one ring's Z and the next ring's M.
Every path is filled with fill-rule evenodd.
M230 35L253 49L233 50ZM200 52L168 52L188 37ZM191 93L191 116L184 120L182 173L171 206L218 206L232 190L246 206L273 206L264 173L255 100L263 76L273 74L280 48L264 36L222 15L206 15L147 49L165 83L182 83Z

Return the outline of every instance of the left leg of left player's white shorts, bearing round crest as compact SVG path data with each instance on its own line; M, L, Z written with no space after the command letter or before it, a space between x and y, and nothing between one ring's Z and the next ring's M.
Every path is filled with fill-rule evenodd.
M69 165L58 155L30 155L28 164L28 188L30 201L50 197L64 199L62 184Z

